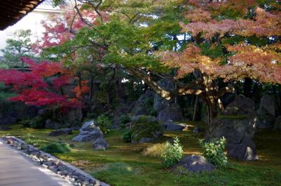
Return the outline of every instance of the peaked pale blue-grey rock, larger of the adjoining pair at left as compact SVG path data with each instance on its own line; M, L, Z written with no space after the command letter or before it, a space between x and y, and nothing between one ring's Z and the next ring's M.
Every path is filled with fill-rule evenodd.
M98 138L103 138L103 132L97 126L96 121L86 121L79 129L79 135L75 136L72 140L78 142L90 142Z

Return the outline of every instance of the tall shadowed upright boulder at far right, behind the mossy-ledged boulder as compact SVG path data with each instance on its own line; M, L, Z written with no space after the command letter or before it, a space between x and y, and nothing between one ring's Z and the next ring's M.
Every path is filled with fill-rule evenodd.
M275 98L263 95L257 111L258 121L256 128L273 128L275 124Z

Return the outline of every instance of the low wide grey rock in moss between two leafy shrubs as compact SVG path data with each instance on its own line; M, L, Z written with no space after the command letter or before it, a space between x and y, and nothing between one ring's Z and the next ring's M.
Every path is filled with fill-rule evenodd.
M190 157L184 157L174 168L183 167L186 171L192 173L202 173L204 171L213 171L216 168L213 164L210 164L206 158L198 155L192 155Z

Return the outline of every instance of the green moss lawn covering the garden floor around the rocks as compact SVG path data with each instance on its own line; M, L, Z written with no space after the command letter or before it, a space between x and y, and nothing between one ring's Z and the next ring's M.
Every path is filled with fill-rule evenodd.
M190 124L188 131L166 132L154 143L178 136L186 155L200 154L197 140L203 135L192 133L192 127L202 124L188 124ZM277 132L266 131L256 135L259 161L245 162L229 159L228 166L218 168L211 173L178 175L178 173L164 170L161 159L146 157L141 153L151 144L132 145L122 142L118 131L111 131L105 136L110 144L110 148L106 151L94 151L91 149L91 143L88 142L72 142L71 139L77 135L78 131L74 131L73 135L58 137L49 136L50 131L15 125L10 131L0 131L0 135L27 138L29 133L35 136L34 142L37 146L48 142L68 142L72 146L72 152L54 155L112 186L281 185L281 133Z

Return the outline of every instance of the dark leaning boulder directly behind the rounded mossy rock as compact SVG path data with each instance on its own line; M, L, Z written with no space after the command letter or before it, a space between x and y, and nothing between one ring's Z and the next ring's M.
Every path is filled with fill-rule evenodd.
M131 115L151 115L152 112L154 112L154 96L155 93L153 93L152 91L146 91L144 94L142 94L140 98L138 98L138 100L136 101L136 104L133 106L133 109L131 110Z

